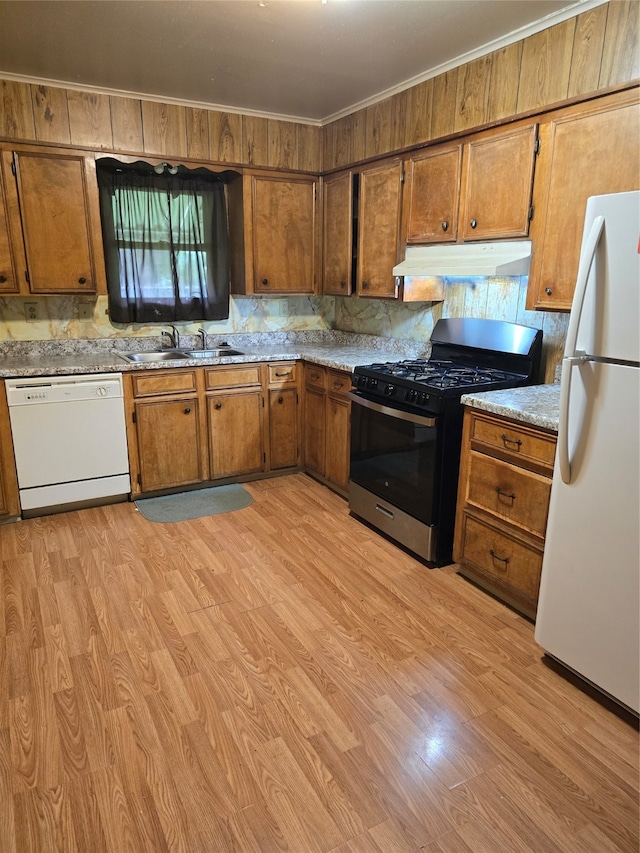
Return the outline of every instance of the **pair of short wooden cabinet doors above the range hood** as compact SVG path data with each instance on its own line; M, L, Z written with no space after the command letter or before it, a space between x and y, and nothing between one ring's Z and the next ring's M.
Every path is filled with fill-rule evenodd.
M537 125L488 131L407 161L406 242L455 243L529 232Z

